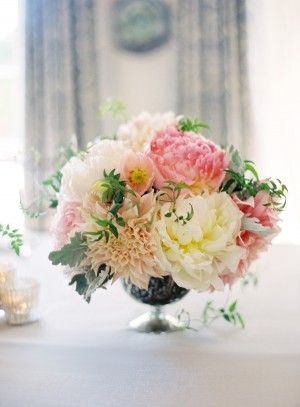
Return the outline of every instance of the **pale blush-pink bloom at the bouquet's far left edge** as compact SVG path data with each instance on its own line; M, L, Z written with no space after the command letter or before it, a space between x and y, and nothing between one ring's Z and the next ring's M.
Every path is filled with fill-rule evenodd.
M64 246L68 242L72 232L83 222L84 220L81 216L77 203L63 203L58 209L55 225L57 247Z

